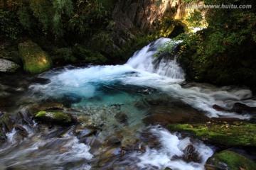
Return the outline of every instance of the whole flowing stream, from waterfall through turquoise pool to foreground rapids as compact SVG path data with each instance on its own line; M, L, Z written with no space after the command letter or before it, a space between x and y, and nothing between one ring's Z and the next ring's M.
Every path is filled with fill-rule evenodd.
M27 137L12 130L0 147L0 169L204 169L213 147L171 133L157 122L145 123L145 118L160 107L173 111L174 120L182 120L180 113L187 111L198 119L246 120L251 116L216 111L213 105L230 109L238 101L247 106L256 102L245 88L182 85L185 74L175 55L152 57L169 40L151 42L123 65L67 66L26 79L26 87L21 87L24 79L19 84L0 84L1 95L12 103L4 108L9 113L51 106L77 115L82 122L68 128L23 125ZM8 86L16 96L4 91ZM90 135L81 137L77 131ZM196 159L186 159L190 147Z

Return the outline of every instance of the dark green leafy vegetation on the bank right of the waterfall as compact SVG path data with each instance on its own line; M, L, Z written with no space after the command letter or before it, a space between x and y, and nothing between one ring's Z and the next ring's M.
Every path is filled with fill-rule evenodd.
M205 4L251 4L255 1L204 1ZM188 26L202 26L201 11L194 11L186 19ZM218 85L256 82L255 8L208 8L208 28L197 33L178 36L183 40L178 53L179 60L194 81ZM171 49L172 45L169 45ZM168 45L163 50L168 50Z

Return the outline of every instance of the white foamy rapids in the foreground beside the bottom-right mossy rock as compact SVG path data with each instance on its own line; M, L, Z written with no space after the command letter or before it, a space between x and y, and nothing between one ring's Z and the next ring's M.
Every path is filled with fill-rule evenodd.
M204 169L204 163L213 155L213 150L204 145L202 142L192 143L189 137L179 139L178 136L172 135L168 130L154 127L151 129L152 134L158 137L161 142L161 147L158 149L146 148L143 154L136 153L133 157L139 158L137 165L146 169L149 166L157 167L157 169L186 169L186 170L201 170ZM185 162L182 159L174 157L183 157L183 151L193 145L195 152L201 157L201 162Z

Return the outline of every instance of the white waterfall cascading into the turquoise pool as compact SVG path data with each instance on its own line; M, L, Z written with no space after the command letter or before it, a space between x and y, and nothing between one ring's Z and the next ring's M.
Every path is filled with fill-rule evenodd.
M171 41L169 38L159 38L158 40L151 42L149 45L142 48L142 50L135 52L128 60L127 64L134 69L156 73L160 76L170 77L172 79L184 79L185 74L176 61L175 51L174 54L171 55L164 53L158 57L154 57L159 48L169 41ZM174 42L174 50L179 42L180 41Z

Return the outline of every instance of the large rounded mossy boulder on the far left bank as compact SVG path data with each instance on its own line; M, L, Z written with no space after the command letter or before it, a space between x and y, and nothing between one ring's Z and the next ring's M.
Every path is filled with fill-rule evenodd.
M46 72L52 66L49 55L32 41L28 40L18 44L18 50L23 62L23 69L28 73Z

